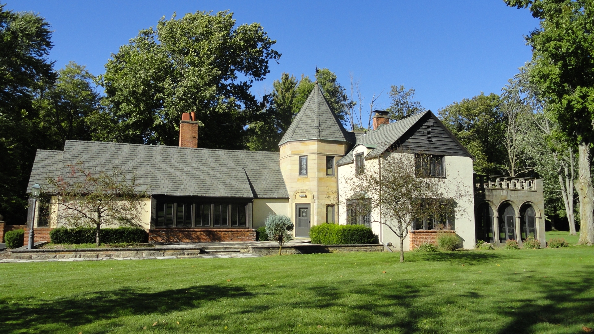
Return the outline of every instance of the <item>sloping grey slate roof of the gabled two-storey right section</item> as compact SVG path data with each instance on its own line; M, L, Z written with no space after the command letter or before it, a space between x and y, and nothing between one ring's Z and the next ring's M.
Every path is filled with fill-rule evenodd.
M357 136L357 142L353 145L363 144L368 148L373 148L369 154L365 155L365 159L377 158L383 152L386 151L394 142L402 137L410 128L412 128L419 120L424 118L426 115L432 115L431 110L419 113L405 119L399 120L394 123L390 123L381 126L379 129L374 131L366 132L362 135ZM353 155L347 153L342 157L337 165L342 166L353 162Z

